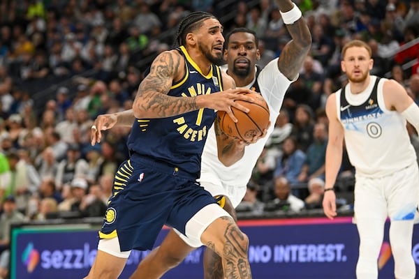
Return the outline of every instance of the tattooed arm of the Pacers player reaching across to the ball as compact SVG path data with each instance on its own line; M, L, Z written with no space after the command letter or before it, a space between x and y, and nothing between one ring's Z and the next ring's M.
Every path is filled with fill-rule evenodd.
M184 71L184 58L177 50L159 54L152 63L149 75L142 80L138 87L137 96L135 96L133 103L134 116L138 119L164 118L199 110L200 108L210 108L226 111L233 120L237 121L231 107L248 112L246 107L235 103L234 100L251 102L250 97L240 94L242 91L251 92L250 90L228 89L223 92L191 98L168 96L172 82L180 80Z

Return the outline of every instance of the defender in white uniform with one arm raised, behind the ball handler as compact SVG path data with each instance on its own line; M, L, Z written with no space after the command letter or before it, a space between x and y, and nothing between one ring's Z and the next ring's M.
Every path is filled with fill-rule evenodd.
M279 59L274 59L261 70L256 66L260 58L258 38L249 29L235 29L226 37L224 58L227 73L235 80L237 87L252 88L260 92L270 107L270 122L275 123L281 109L284 94L298 77L298 72L311 47L311 35L300 10L291 0L277 0L284 22L291 34L291 40L282 51ZM284 12L282 12L284 11ZM115 125L131 125L131 112L104 114L95 121L97 128L93 133L92 144L100 141L101 130ZM246 193L247 183L267 138L272 133L271 125L265 137L251 144L240 142L226 135L223 146L217 146L214 125L208 132L202 161L200 185L219 199L219 204L233 218L235 207ZM219 133L219 132L218 132ZM221 151L218 149L221 148ZM218 156L217 156L218 154ZM223 163L221 163L221 161ZM182 241L183 240L183 241ZM183 234L171 229L159 248L154 249L138 266L131 276L134 278L160 278L163 273L177 266L193 249L202 246ZM224 278L221 258L210 249L204 255L205 278Z

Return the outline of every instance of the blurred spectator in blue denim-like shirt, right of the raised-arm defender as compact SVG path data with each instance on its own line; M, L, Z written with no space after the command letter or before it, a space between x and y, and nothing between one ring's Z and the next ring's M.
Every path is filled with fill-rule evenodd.
M282 155L277 159L274 177L284 176L289 183L297 184L306 155L297 148L295 137L287 137L284 140L282 151Z

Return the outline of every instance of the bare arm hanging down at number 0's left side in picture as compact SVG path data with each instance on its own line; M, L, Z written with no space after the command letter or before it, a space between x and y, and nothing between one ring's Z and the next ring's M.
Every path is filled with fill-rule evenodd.
M342 149L344 142L344 128L337 119L336 94L329 96L326 103L326 114L329 119L329 140L326 147L325 159L325 195L323 197L323 211L328 218L337 216L336 195L333 190L337 174L342 162ZM330 189L330 190L328 190Z

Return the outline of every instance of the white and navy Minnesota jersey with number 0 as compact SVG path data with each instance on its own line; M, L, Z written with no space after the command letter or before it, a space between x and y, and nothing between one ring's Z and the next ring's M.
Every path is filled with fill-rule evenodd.
M348 157L357 174L382 177L416 164L416 153L406 130L406 119L385 108L383 84L371 76L365 91L337 91L337 116L344 126Z

